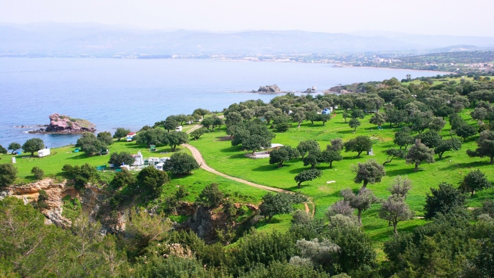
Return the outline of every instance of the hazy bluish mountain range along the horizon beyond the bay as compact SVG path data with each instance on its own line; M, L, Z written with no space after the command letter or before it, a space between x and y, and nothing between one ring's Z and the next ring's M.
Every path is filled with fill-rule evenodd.
M422 54L494 49L492 37L422 36L384 32L134 30L100 24L0 24L0 56L141 56Z

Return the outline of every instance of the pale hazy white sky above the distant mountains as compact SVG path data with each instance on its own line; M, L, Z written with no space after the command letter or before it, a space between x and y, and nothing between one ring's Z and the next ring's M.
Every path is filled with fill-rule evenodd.
M0 0L0 22L494 37L494 0Z

